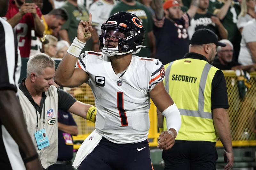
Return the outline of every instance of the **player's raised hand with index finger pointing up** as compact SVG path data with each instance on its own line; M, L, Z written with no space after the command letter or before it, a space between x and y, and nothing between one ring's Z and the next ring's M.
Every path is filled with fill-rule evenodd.
M89 14L89 21L80 21L77 27L77 36L76 38L82 42L86 42L92 36L92 14Z

